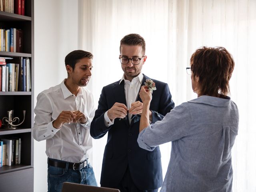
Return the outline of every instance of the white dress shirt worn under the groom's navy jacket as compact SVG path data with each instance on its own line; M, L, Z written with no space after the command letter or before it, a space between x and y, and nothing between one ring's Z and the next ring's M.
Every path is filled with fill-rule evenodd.
M140 73L137 77L133 78L131 82L129 80L126 80L124 78L124 74L123 74L123 77L120 80L119 84L123 80L124 80L124 92L125 92L125 98L126 98L126 107L129 110L131 108L132 103L137 100L137 97L138 97L138 94L140 91L140 86L141 86L142 80L143 80L143 74ZM129 117L129 122L131 123L132 114L128 113L128 117ZM105 126L107 126L107 127L114 124L114 120L111 121L110 118L108 118L108 111L106 111L104 114L104 123L105 123Z

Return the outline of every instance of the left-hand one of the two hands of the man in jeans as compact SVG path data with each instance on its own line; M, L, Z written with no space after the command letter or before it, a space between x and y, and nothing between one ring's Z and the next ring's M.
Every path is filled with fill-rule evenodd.
M74 122L76 115L71 111L62 111L56 120L52 122L52 126L56 129L60 129L62 124Z

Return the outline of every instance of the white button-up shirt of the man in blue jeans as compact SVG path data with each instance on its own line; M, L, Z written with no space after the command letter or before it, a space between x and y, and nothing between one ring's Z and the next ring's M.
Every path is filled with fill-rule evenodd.
M82 162L92 151L90 124L95 113L93 96L84 88L80 88L75 96L64 81L38 94L32 133L35 140L46 140L46 154L49 158ZM60 112L75 110L87 117L86 123L65 123L60 129L53 127L52 122Z

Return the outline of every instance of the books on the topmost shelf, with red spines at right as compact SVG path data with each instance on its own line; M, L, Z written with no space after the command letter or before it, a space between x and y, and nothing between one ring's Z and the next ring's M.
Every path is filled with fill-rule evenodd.
M25 15L25 0L0 0L0 10Z

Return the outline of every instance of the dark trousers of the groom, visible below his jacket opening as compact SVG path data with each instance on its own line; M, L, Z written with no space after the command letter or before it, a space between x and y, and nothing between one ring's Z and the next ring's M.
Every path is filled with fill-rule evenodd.
M122 178L121 182L116 188L118 188L121 192L158 192L158 189L154 189L154 190L138 189L132 180L128 167L126 169L124 177Z

